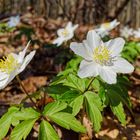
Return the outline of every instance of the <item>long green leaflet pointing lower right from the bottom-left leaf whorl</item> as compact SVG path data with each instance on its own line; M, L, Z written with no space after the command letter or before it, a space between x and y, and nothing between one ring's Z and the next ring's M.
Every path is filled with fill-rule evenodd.
M72 129L75 132L82 132L85 133L85 128L81 125L79 121L76 120L76 118L69 113L66 112L57 112L55 114L51 114L47 116L50 120L54 121L58 125L66 128L66 129Z

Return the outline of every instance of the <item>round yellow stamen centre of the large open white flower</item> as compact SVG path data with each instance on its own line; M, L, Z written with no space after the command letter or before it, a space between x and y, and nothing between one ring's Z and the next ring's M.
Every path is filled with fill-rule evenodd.
M107 65L111 60L111 52L104 46L97 47L93 52L93 59L98 64Z

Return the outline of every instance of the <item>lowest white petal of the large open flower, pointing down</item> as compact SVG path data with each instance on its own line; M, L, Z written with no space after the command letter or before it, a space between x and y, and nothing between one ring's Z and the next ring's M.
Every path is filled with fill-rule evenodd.
M109 67L100 67L99 75L108 84L115 84L117 82L117 74Z

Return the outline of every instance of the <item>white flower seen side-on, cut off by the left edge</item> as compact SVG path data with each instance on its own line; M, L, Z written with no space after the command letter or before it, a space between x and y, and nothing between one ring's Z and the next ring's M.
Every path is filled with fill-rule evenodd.
M32 60L35 51L25 56L28 46L29 43L19 54L10 53L7 57L0 59L0 89L5 88Z

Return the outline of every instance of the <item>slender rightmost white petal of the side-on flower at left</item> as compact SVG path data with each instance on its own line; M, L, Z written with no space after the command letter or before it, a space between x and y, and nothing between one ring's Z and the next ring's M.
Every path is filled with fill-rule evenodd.
M18 73L22 72L26 68L26 66L30 63L30 61L34 57L35 53L36 53L36 51L32 51L25 57L22 65L20 66L20 68L18 70Z

